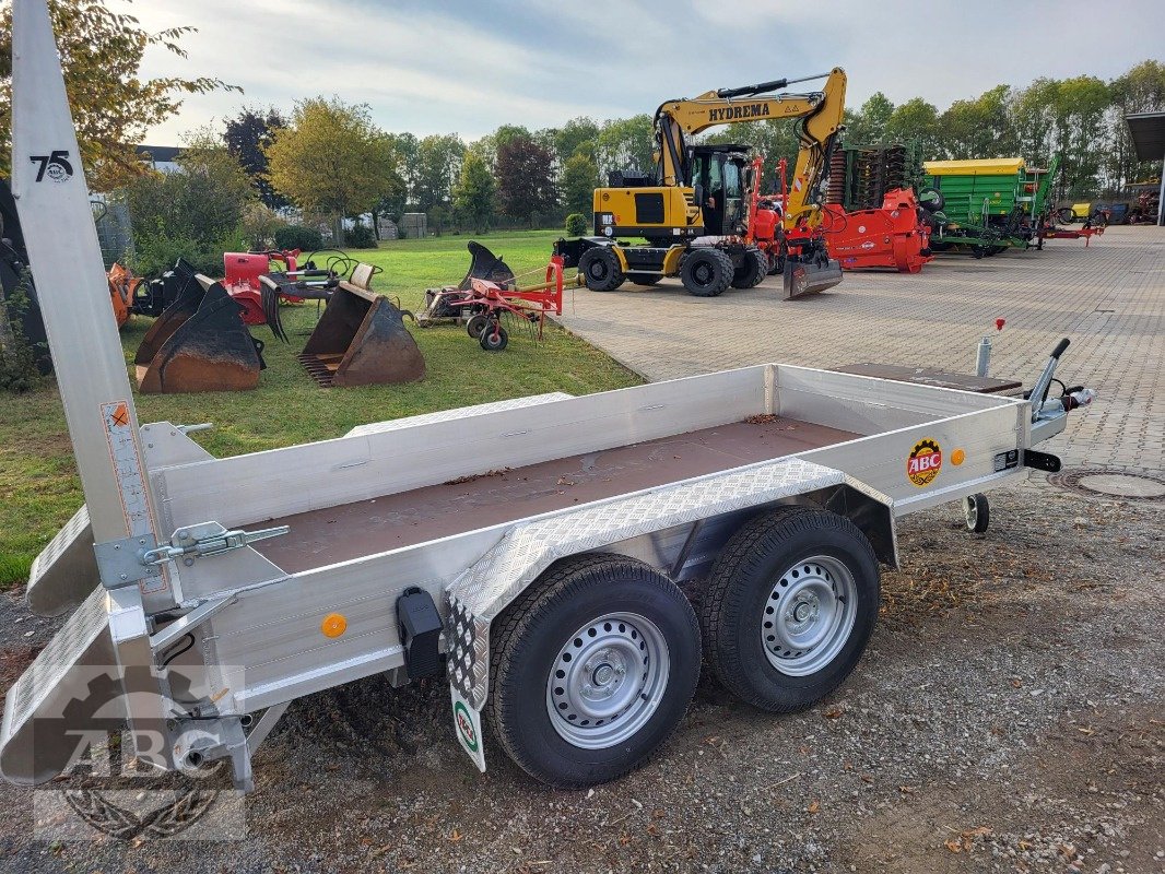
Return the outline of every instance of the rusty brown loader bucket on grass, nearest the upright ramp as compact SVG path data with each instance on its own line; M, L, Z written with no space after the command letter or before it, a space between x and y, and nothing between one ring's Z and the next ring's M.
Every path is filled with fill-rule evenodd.
M246 392L259 385L262 348L223 284L191 272L178 297L137 347L137 389L143 394Z

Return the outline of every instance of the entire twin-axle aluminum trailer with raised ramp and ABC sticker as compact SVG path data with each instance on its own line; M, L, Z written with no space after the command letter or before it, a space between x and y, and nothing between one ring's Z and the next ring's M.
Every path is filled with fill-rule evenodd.
M248 788L290 702L443 670L480 769L485 716L535 777L610 780L701 662L774 712L827 695L895 521L969 499L981 529L982 492L1058 464L1032 446L1065 427L1043 399L1066 341L1030 402L765 364L213 458L136 424L44 0L16 0L14 40L17 204L86 506L29 580L35 612L73 613L7 695L10 781L127 724L140 760L228 760Z

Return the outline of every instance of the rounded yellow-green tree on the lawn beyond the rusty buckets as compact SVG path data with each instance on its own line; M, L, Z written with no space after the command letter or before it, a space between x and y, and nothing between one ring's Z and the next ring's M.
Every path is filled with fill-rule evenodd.
M266 149L271 185L308 212L355 218L400 182L395 155L367 105L323 97L296 104ZM337 223L343 240L343 221Z

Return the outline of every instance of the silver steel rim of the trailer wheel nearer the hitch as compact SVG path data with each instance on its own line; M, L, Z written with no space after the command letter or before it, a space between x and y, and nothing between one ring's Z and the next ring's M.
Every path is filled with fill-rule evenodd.
M828 665L849 640L857 615L854 575L836 558L813 556L772 586L761 620L769 664L791 677Z

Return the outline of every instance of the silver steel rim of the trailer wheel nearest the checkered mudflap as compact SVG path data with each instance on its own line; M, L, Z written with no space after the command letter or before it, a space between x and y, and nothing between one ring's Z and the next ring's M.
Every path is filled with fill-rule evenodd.
M637 613L587 622L558 650L546 711L559 736L584 749L622 743L655 714L671 660L659 628Z

